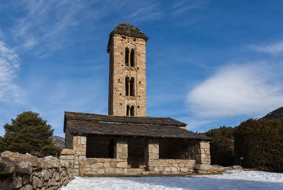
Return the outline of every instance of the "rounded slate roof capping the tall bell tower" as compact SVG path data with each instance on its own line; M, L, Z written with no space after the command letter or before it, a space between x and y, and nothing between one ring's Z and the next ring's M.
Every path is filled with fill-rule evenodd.
M134 25L127 24L127 23L120 23L110 33L107 49L110 49L110 43L111 43L111 38L113 34L124 34L126 36L142 38L145 40L145 42L148 40L148 37L145 34L143 34L143 32L141 32L140 29L138 29Z

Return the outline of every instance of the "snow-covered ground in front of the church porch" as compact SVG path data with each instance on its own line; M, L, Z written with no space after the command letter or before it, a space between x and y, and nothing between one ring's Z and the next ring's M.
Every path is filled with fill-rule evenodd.
M229 171L177 177L75 177L61 190L283 190L283 174Z

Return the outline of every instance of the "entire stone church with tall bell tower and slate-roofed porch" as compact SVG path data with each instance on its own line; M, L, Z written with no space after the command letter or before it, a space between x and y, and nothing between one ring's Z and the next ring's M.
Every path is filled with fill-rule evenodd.
M148 37L121 23L110 33L108 115L65 112L65 147L77 175L209 173L210 137L170 117L146 116Z

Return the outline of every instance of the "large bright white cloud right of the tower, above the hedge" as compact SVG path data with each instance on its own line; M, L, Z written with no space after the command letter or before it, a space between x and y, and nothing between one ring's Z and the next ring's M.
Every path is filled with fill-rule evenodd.
M282 63L231 64L188 94L192 113L202 117L265 114L283 105Z

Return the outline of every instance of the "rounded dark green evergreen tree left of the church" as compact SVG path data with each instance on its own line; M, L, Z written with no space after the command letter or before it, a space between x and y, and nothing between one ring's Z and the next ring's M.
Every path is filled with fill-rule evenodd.
M41 152L42 154L56 153L51 136L54 129L42 119L39 113L23 112L11 124L4 126L5 135L0 138L0 152L6 150L25 154L27 152Z

